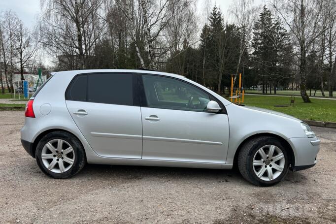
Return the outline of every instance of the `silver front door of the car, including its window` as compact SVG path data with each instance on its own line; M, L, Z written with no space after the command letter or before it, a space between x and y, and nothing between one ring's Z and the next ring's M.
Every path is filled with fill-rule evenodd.
M208 113L210 96L182 80L142 75L142 159L225 163L228 116Z

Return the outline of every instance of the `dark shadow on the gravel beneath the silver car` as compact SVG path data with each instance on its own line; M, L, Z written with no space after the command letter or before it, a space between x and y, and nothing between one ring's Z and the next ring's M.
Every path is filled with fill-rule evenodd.
M98 165L87 164L77 174L78 178L90 179L124 179L141 180L143 178L161 178L166 180L200 180L206 182L234 182L236 184L249 183L243 179L239 170L233 169L202 169L202 168L181 168L161 166L128 166L128 165ZM288 171L282 185L293 185L307 180L301 172ZM250 184L251 185L251 184ZM251 185L252 186L252 185Z

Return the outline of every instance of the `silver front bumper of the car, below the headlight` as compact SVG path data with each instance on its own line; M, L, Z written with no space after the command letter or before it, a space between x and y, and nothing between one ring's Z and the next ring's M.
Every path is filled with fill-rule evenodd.
M314 138L289 138L295 162L292 169L295 171L313 167L316 164L317 154L320 151L320 139Z

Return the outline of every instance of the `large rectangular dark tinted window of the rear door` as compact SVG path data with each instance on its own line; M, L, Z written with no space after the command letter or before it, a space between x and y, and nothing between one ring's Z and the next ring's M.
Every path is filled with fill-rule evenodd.
M88 74L87 101L133 105L132 74Z

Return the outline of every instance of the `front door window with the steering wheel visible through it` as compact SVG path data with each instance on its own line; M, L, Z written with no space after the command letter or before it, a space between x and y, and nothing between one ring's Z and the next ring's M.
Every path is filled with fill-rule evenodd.
M143 75L143 86L149 107L205 111L209 95L183 81L155 75Z

